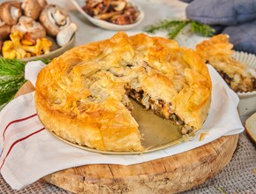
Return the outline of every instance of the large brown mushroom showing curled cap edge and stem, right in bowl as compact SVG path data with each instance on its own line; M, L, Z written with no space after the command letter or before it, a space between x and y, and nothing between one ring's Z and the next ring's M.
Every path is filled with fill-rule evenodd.
M46 5L41 11L39 20L51 36L56 36L62 29L71 24L67 11L55 4Z

